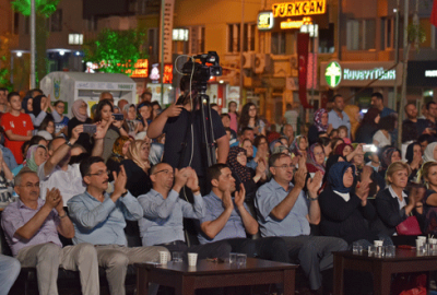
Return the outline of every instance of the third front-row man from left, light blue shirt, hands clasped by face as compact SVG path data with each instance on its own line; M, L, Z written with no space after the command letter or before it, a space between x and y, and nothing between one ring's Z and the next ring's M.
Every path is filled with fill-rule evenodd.
M199 220L205 215L205 206L200 193L198 176L191 167L173 170L166 163L160 163L151 169L153 189L138 197L144 211L139 221L144 246L164 246L169 251L197 252L199 259L226 258L231 246L217 241L208 245L188 247L184 236L184 217ZM175 185L173 184L175 181ZM179 198L184 186L192 191L194 204Z

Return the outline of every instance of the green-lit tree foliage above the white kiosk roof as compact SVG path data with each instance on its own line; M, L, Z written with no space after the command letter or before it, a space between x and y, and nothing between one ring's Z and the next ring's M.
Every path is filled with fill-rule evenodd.
M102 31L97 39L84 44L84 60L97 64L98 72L129 73L138 59L146 58L144 32L139 30Z

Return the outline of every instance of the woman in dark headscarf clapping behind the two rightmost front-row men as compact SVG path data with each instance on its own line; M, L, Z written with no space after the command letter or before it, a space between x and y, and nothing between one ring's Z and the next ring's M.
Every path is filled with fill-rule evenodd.
M235 178L235 186L239 189L240 184L245 186L246 198L245 202L248 205L250 213L255 214L253 199L260 184L265 179L265 162L260 158L257 169L253 170L246 166L247 153L246 150L239 146L232 146L227 156L227 165L231 168L233 177ZM253 215L256 216L256 215Z

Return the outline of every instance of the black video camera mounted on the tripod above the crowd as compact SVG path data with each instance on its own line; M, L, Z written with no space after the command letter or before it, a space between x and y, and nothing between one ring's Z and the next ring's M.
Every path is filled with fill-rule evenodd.
M218 55L215 51L194 56L182 66L182 73L192 75L192 84L201 93L206 91L206 84L211 76L222 75L222 72Z

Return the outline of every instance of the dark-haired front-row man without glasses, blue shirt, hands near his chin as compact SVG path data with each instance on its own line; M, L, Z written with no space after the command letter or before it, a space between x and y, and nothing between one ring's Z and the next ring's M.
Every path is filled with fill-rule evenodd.
M235 179L229 167L225 164L215 164L208 168L212 190L203 198L206 214L200 221L202 233L199 234L200 244L225 240L234 252L244 252L249 257L288 262L285 243L281 238L269 237L248 239L258 233L258 222L250 215L245 204L246 190L241 185L236 191ZM231 197L235 191L235 198Z

